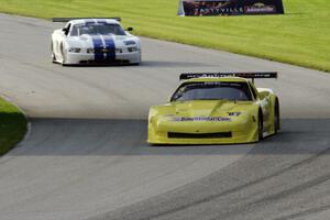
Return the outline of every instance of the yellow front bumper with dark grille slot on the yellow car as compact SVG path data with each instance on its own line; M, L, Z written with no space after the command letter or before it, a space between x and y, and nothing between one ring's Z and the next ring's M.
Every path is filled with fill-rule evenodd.
M148 123L150 144L239 144L256 142L257 124L231 122Z

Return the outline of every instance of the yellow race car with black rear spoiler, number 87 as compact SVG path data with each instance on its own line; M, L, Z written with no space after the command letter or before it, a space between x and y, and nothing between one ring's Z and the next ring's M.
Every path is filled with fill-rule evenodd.
M277 73L182 74L168 103L151 107L151 144L230 144L257 142L279 130L279 101L255 78ZM252 80L251 80L252 79Z

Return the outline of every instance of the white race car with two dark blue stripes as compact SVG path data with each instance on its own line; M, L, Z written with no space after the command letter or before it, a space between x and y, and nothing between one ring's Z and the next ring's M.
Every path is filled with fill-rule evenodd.
M141 63L140 38L119 23L120 19L67 19L52 34L52 61L63 65Z

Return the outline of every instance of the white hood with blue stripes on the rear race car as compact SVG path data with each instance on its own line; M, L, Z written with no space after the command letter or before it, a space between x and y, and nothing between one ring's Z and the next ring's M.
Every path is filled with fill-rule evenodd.
M139 46L140 40L133 35L89 35L70 36L67 41L70 47L97 48L116 46L117 48L125 46Z

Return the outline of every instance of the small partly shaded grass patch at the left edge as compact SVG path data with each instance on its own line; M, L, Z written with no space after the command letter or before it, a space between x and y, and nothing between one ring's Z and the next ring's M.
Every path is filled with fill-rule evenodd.
M0 98L0 155L9 152L24 138L26 124L23 113Z

